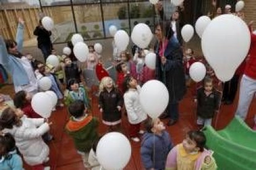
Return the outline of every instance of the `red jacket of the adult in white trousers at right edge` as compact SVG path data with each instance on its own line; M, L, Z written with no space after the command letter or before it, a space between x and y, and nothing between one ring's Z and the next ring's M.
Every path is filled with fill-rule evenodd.
M252 28L250 28L250 39L250 51L244 74L252 79L256 79L256 34L252 33Z

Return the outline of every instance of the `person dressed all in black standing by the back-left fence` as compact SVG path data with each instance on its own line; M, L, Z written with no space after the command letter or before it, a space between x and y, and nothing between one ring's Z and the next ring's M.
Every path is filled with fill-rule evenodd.
M51 31L43 28L42 21L39 20L39 25L34 30L34 35L37 36L38 48L41 49L43 57L46 61L47 57L51 55L53 44L51 43Z

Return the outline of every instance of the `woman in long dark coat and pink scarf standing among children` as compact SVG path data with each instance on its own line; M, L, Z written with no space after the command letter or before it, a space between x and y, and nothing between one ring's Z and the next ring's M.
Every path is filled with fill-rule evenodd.
M179 118L179 101L186 94L185 73L182 64L182 49L174 36L172 26L160 22L155 30L156 42L156 78L162 81L169 91L168 126L175 124Z

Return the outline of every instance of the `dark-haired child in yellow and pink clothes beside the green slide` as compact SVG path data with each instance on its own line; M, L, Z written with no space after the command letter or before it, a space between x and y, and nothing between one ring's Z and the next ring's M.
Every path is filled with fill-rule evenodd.
M206 150L205 134L200 131L190 131L182 144L176 145L169 152L166 160L166 170L191 169L215 170L217 168L213 152Z

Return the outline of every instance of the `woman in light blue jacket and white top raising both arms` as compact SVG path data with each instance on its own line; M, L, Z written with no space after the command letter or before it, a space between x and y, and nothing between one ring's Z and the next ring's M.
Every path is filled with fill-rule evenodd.
M12 75L15 92L27 91L35 94L38 91L37 81L29 60L20 52L23 46L24 21L19 18L16 41L0 36L0 63Z

